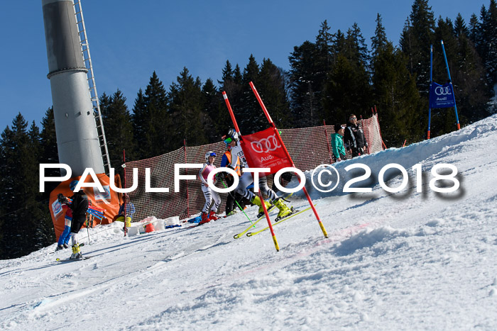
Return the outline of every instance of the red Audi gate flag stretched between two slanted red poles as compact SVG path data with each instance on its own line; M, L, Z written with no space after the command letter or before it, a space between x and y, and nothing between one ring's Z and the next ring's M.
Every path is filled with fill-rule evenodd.
M285 167L293 167L277 135L279 133L276 128L268 128L241 136L240 146L244 150L249 167L271 168L271 172L266 174L275 174Z

